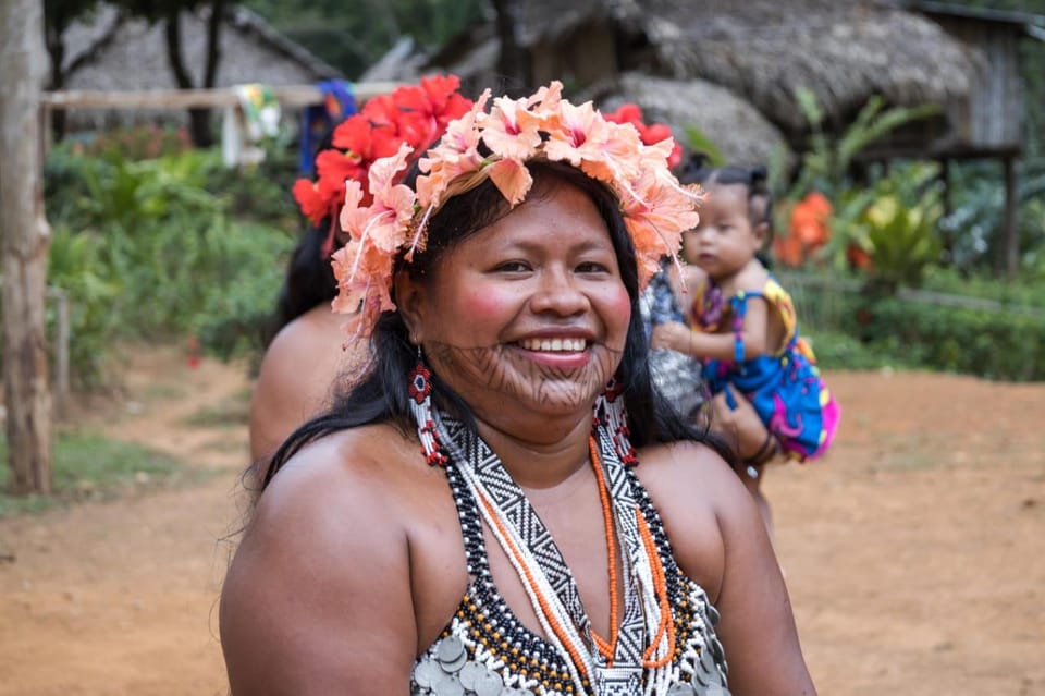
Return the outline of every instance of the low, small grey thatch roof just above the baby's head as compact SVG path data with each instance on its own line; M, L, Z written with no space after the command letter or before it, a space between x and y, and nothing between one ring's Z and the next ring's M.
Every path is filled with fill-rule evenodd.
M585 90L604 111L634 102L647 122L671 126L677 141L688 144L687 129L696 127L729 162L765 163L787 151L779 130L751 102L706 80L651 77L624 73Z

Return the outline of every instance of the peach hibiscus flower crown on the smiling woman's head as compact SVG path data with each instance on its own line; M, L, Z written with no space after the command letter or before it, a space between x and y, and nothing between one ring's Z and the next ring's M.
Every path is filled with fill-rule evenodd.
M562 89L553 82L527 98L500 97L489 112L490 90L483 91L419 158L414 190L399 183L418 151L408 139L393 154L362 158L367 187L361 178L347 176L337 216L351 239L331 256L339 288L332 307L354 315L351 332L369 337L381 314L395 309L395 261L402 256L409 262L423 251L428 223L446 200L489 179L514 207L533 184L527 161L563 162L610 187L631 236L642 285L661 258L675 256L681 233L697 225L702 194L672 174L680 148L671 131L644 126L634 105L611 114L622 121L615 122L590 101L575 106L563 99ZM643 142L643 134L651 142ZM373 150L351 148L347 157L356 152Z

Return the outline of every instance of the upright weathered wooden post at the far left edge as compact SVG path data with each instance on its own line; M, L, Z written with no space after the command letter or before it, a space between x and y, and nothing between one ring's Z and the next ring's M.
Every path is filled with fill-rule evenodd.
M0 234L9 488L51 490L51 394L44 302L50 230L40 181L42 0L0 2Z

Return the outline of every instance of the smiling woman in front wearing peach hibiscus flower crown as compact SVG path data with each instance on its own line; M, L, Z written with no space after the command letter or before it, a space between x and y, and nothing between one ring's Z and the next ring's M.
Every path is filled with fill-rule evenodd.
M233 694L814 693L750 496L649 374L698 196L561 88L347 183L335 307L374 357L268 469Z

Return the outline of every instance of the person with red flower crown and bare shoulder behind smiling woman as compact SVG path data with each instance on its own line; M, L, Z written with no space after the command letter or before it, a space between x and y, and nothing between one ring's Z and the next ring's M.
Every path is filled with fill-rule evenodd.
M310 224L287 266L250 399L256 467L263 468L295 428L330 404L332 388L352 383L370 358L367 344L348 340L344 317L330 306L337 295L331 255L345 242L336 229L345 181L366 184L373 161L399 142L418 154L434 143L471 106L458 87L455 76L432 76L370 99L320 145L317 179L295 183L294 197Z

